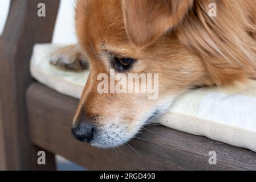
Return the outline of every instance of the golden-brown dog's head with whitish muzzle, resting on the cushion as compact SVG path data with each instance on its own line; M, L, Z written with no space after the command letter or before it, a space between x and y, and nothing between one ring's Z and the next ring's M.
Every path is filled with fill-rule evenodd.
M203 48L195 51L197 47L186 45L182 26L186 31L192 28L189 39L205 36L193 27L208 31L200 29L204 24L198 16L189 22L194 6L193 0L78 1L76 31L90 61L90 76L74 118L75 138L93 146L118 146L164 113L185 89L235 77L230 72L223 76L215 67L210 69L217 73L209 72L200 53ZM208 8L208 3L197 6ZM220 50L207 46L203 52L208 57L219 56ZM139 92L138 85L129 82L137 76Z

